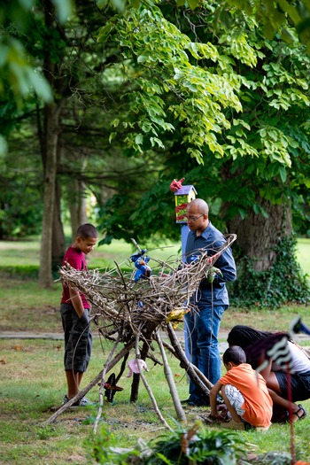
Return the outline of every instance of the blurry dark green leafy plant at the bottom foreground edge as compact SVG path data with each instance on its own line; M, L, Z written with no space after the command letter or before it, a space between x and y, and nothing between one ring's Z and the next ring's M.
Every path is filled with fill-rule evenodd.
M138 444L136 449L120 449L116 443L103 425L85 446L101 465L236 465L244 456L244 443L236 431L206 430L198 423L189 430L178 426L154 445L151 441L149 445Z

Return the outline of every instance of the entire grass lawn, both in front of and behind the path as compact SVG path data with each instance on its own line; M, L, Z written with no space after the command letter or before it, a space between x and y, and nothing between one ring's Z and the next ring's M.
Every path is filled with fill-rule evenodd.
M55 283L51 290L42 290L33 279L16 277L5 273L8 267L38 266L37 241L27 243L0 242L0 292L5 305L1 310L0 330L61 332L58 315L60 283ZM178 246L156 252L156 259L162 253L162 260L178 252ZM132 253L128 244L114 244L99 247L92 253L89 266L106 267L113 260L118 263L127 260ZM310 241L298 242L300 265L305 273L310 274ZM104 261L105 260L105 261ZM221 329L228 331L236 323L249 324L260 329L287 329L294 315L300 314L310 326L310 316L306 306L287 306L275 310L252 310L230 308L222 319ZM96 333L95 333L96 334ZM223 334L222 340L225 340ZM305 344L307 339L305 338ZM309 343L310 344L310 343ZM155 355L159 356L157 347ZM83 387L94 379L103 368L111 351L111 344L94 339L89 370L83 380ZM52 407L58 406L66 393L66 380L63 371L64 346L62 340L44 339L0 339L0 465L96 465L90 456L87 442L93 437L93 424L97 407L75 408L58 416L55 423L46 426L44 422L52 415ZM132 353L134 357L134 353ZM188 397L188 381L179 362L167 354L180 399ZM174 427L176 415L172 399L167 389L163 368L147 361L149 373L147 381L157 399L160 411L171 427ZM113 371L117 375L120 364ZM115 395L115 405L105 401L102 424L115 435L116 445L132 447L137 439L150 440L158 438L165 432L151 404L151 399L140 386L139 399L135 404L129 402L131 379L127 371L120 379L124 391ZM98 399L99 386L89 391L88 397ZM310 412L310 400L302 402ZM187 407L187 428L196 422L203 427L220 430L217 426L206 426L203 416L206 408ZM299 460L310 461L308 431L310 415L294 424L294 444ZM256 431L238 431L244 440L244 451L253 454L267 452L290 453L290 426L274 424L265 434ZM261 461L259 463L270 463ZM282 464L283 459L273 462ZM290 462L287 462L290 463Z

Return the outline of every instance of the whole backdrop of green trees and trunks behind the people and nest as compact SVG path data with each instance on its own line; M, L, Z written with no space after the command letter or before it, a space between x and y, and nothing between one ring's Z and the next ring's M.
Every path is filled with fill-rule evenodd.
M42 285L89 193L105 243L179 240L168 188L185 177L238 236L239 295L251 275L265 303L305 300L288 257L309 230L307 22L290 5L272 26L229 2L29 4L2 14L0 236L42 228Z

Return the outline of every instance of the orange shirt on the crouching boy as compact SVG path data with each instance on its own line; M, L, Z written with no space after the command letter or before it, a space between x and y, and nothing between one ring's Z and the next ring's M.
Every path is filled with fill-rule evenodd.
M244 396L243 419L252 426L270 426L272 399L265 379L248 363L229 369L220 379L221 384L232 384Z

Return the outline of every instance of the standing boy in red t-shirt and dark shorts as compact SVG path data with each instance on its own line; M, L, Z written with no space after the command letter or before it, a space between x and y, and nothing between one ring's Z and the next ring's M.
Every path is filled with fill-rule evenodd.
M85 255L97 244L97 229L89 223L82 224L76 231L74 244L67 249L62 265L68 263L78 271L86 270ZM92 349L89 322L89 302L71 284L63 283L60 314L65 331L65 371L67 394L63 404L73 399L80 391L83 374L88 368ZM89 399L82 398L74 407L85 407Z

